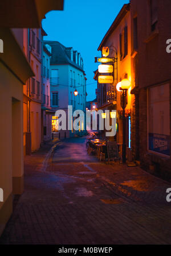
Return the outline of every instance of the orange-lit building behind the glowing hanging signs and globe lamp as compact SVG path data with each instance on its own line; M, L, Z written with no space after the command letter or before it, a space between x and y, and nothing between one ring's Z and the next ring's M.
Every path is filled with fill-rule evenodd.
M97 101L100 109L117 109L117 135L116 140L118 144L123 144L123 109L121 107L121 92L118 92L116 85L124 78L131 81L131 88L127 93L127 107L125 108L126 116L126 146L132 147L131 143L131 123L132 123L132 107L134 96L131 94L133 88L131 78L131 14L129 11L130 4L125 4L117 15L115 21L105 34L100 43L98 50L103 47L109 48L109 55L107 57L114 57L114 80L113 84L98 84L97 86ZM97 80L97 72L95 74ZM113 95L113 97L110 97Z

